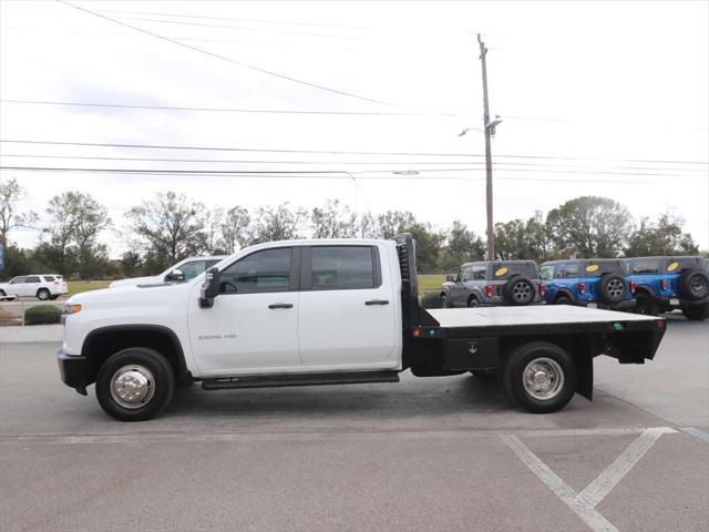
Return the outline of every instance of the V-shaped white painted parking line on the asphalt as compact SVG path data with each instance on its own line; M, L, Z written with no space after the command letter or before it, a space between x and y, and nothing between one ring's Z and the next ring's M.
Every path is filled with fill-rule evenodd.
M562 436L564 431L547 431L548 436ZM540 457L534 454L520 438L512 434L500 434L502 440L514 451L542 482L544 482L556 497L558 497L568 508L571 508L594 532L618 532L606 518L595 508L608 493L623 480L623 478L638 463L645 453L653 447L660 436L676 433L669 427L657 427L645 429L645 431L630 443L625 451L608 466L590 484L580 493L576 493L566 482L564 482ZM616 434L618 432L615 432ZM620 432L627 433L627 432ZM536 436L542 436L537 432ZM564 434L567 436L567 434Z

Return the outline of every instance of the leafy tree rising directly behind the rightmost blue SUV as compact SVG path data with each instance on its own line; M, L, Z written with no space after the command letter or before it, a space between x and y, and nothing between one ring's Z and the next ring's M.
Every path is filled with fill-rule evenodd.
M625 248L627 257L653 255L697 255L699 246L689 233L682 232L685 221L674 213L664 213L656 222L643 218Z

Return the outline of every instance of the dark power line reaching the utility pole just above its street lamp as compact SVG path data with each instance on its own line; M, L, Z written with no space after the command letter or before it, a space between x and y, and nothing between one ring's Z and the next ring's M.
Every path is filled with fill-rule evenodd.
M465 116L462 113L392 113L377 111L297 111L285 109L238 109L238 108L185 108L172 105L133 105L127 103L94 103L94 102L53 102L43 100L0 100L3 103L33 104L33 105L65 105L80 108L116 108L116 109L144 109L155 111L205 111L225 113L255 113L255 114L328 114L328 115L354 115L354 116Z

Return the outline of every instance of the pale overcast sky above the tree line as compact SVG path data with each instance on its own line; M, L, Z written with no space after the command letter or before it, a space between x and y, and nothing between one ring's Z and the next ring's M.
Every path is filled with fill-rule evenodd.
M225 208L338 198L483 235L477 33L503 121L495 222L599 195L638 221L674 211L709 249L706 1L2 0L0 180L20 182L38 226L53 195L90 193L114 222L101 237L114 256L124 213L167 190ZM10 237L31 247L41 233Z

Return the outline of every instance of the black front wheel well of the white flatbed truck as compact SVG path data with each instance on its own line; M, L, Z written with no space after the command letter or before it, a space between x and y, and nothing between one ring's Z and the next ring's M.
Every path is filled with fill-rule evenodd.
M109 357L130 347L155 349L167 359L179 385L192 382L179 340L165 327L105 327L91 332L81 355L92 362L92 381Z

